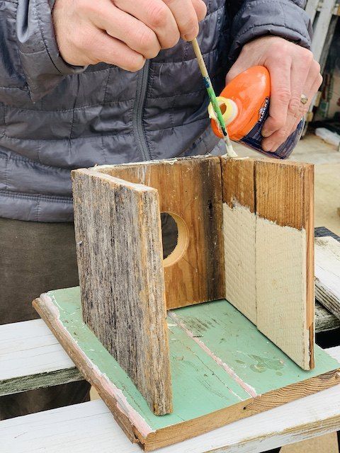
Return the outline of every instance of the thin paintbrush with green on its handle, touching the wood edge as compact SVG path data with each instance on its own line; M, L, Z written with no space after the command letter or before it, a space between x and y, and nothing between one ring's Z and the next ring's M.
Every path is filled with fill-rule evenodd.
M203 76L204 85L207 90L208 96L210 98L212 108L214 109L214 112L215 112L215 115L217 118L217 122L220 125L220 129L222 130L223 139L225 140L225 147L227 149L227 156L236 157L237 154L235 153L234 149L232 148L232 142L230 142L230 139L229 139L227 127L225 126L225 120L223 118L223 115L222 115L222 112L220 109L220 104L217 101L214 88L212 88L208 70L207 70L207 67L205 66L203 55L202 55L202 52L200 52L200 46L198 45L196 38L191 41L191 44L193 45L193 51L195 52L195 55L196 55L196 58L198 61L198 66L200 68L200 73Z

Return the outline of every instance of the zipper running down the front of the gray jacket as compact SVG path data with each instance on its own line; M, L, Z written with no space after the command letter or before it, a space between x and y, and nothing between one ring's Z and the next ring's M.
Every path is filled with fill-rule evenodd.
M147 145L147 138L145 137L145 130L143 127L143 113L145 99L147 97L147 82L149 79L149 67L150 60L147 59L144 67L140 70L138 74L135 105L133 108L132 115L132 127L135 133L137 147L140 150L140 154L142 154L142 159L144 161L152 160L152 156Z

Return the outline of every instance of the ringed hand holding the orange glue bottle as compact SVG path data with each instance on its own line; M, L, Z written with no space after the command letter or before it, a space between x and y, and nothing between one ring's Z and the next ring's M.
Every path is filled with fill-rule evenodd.
M322 84L320 65L312 52L276 36L263 36L244 45L227 74L227 82L252 66L264 66L271 74L269 117L262 129L264 151L276 151L294 132ZM308 98L304 105L301 95Z

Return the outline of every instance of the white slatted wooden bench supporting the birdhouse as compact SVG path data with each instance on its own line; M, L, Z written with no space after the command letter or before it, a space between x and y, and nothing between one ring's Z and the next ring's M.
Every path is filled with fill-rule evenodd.
M324 318L322 312L329 325L331 315L321 309L319 319ZM331 322L335 327L336 320ZM340 346L329 352L340 360ZM0 326L1 395L79 379L72 360L41 320ZM339 385L158 451L256 453L336 430L340 430ZM100 400L0 422L1 453L93 451L141 451Z

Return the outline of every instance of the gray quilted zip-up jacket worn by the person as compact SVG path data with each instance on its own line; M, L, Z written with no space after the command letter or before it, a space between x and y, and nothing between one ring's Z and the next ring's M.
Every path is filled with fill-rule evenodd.
M207 0L199 42L217 91L245 42L279 35L309 47L305 0ZM0 0L0 217L72 221L70 170L215 152L191 45L132 74L71 67L48 0Z

